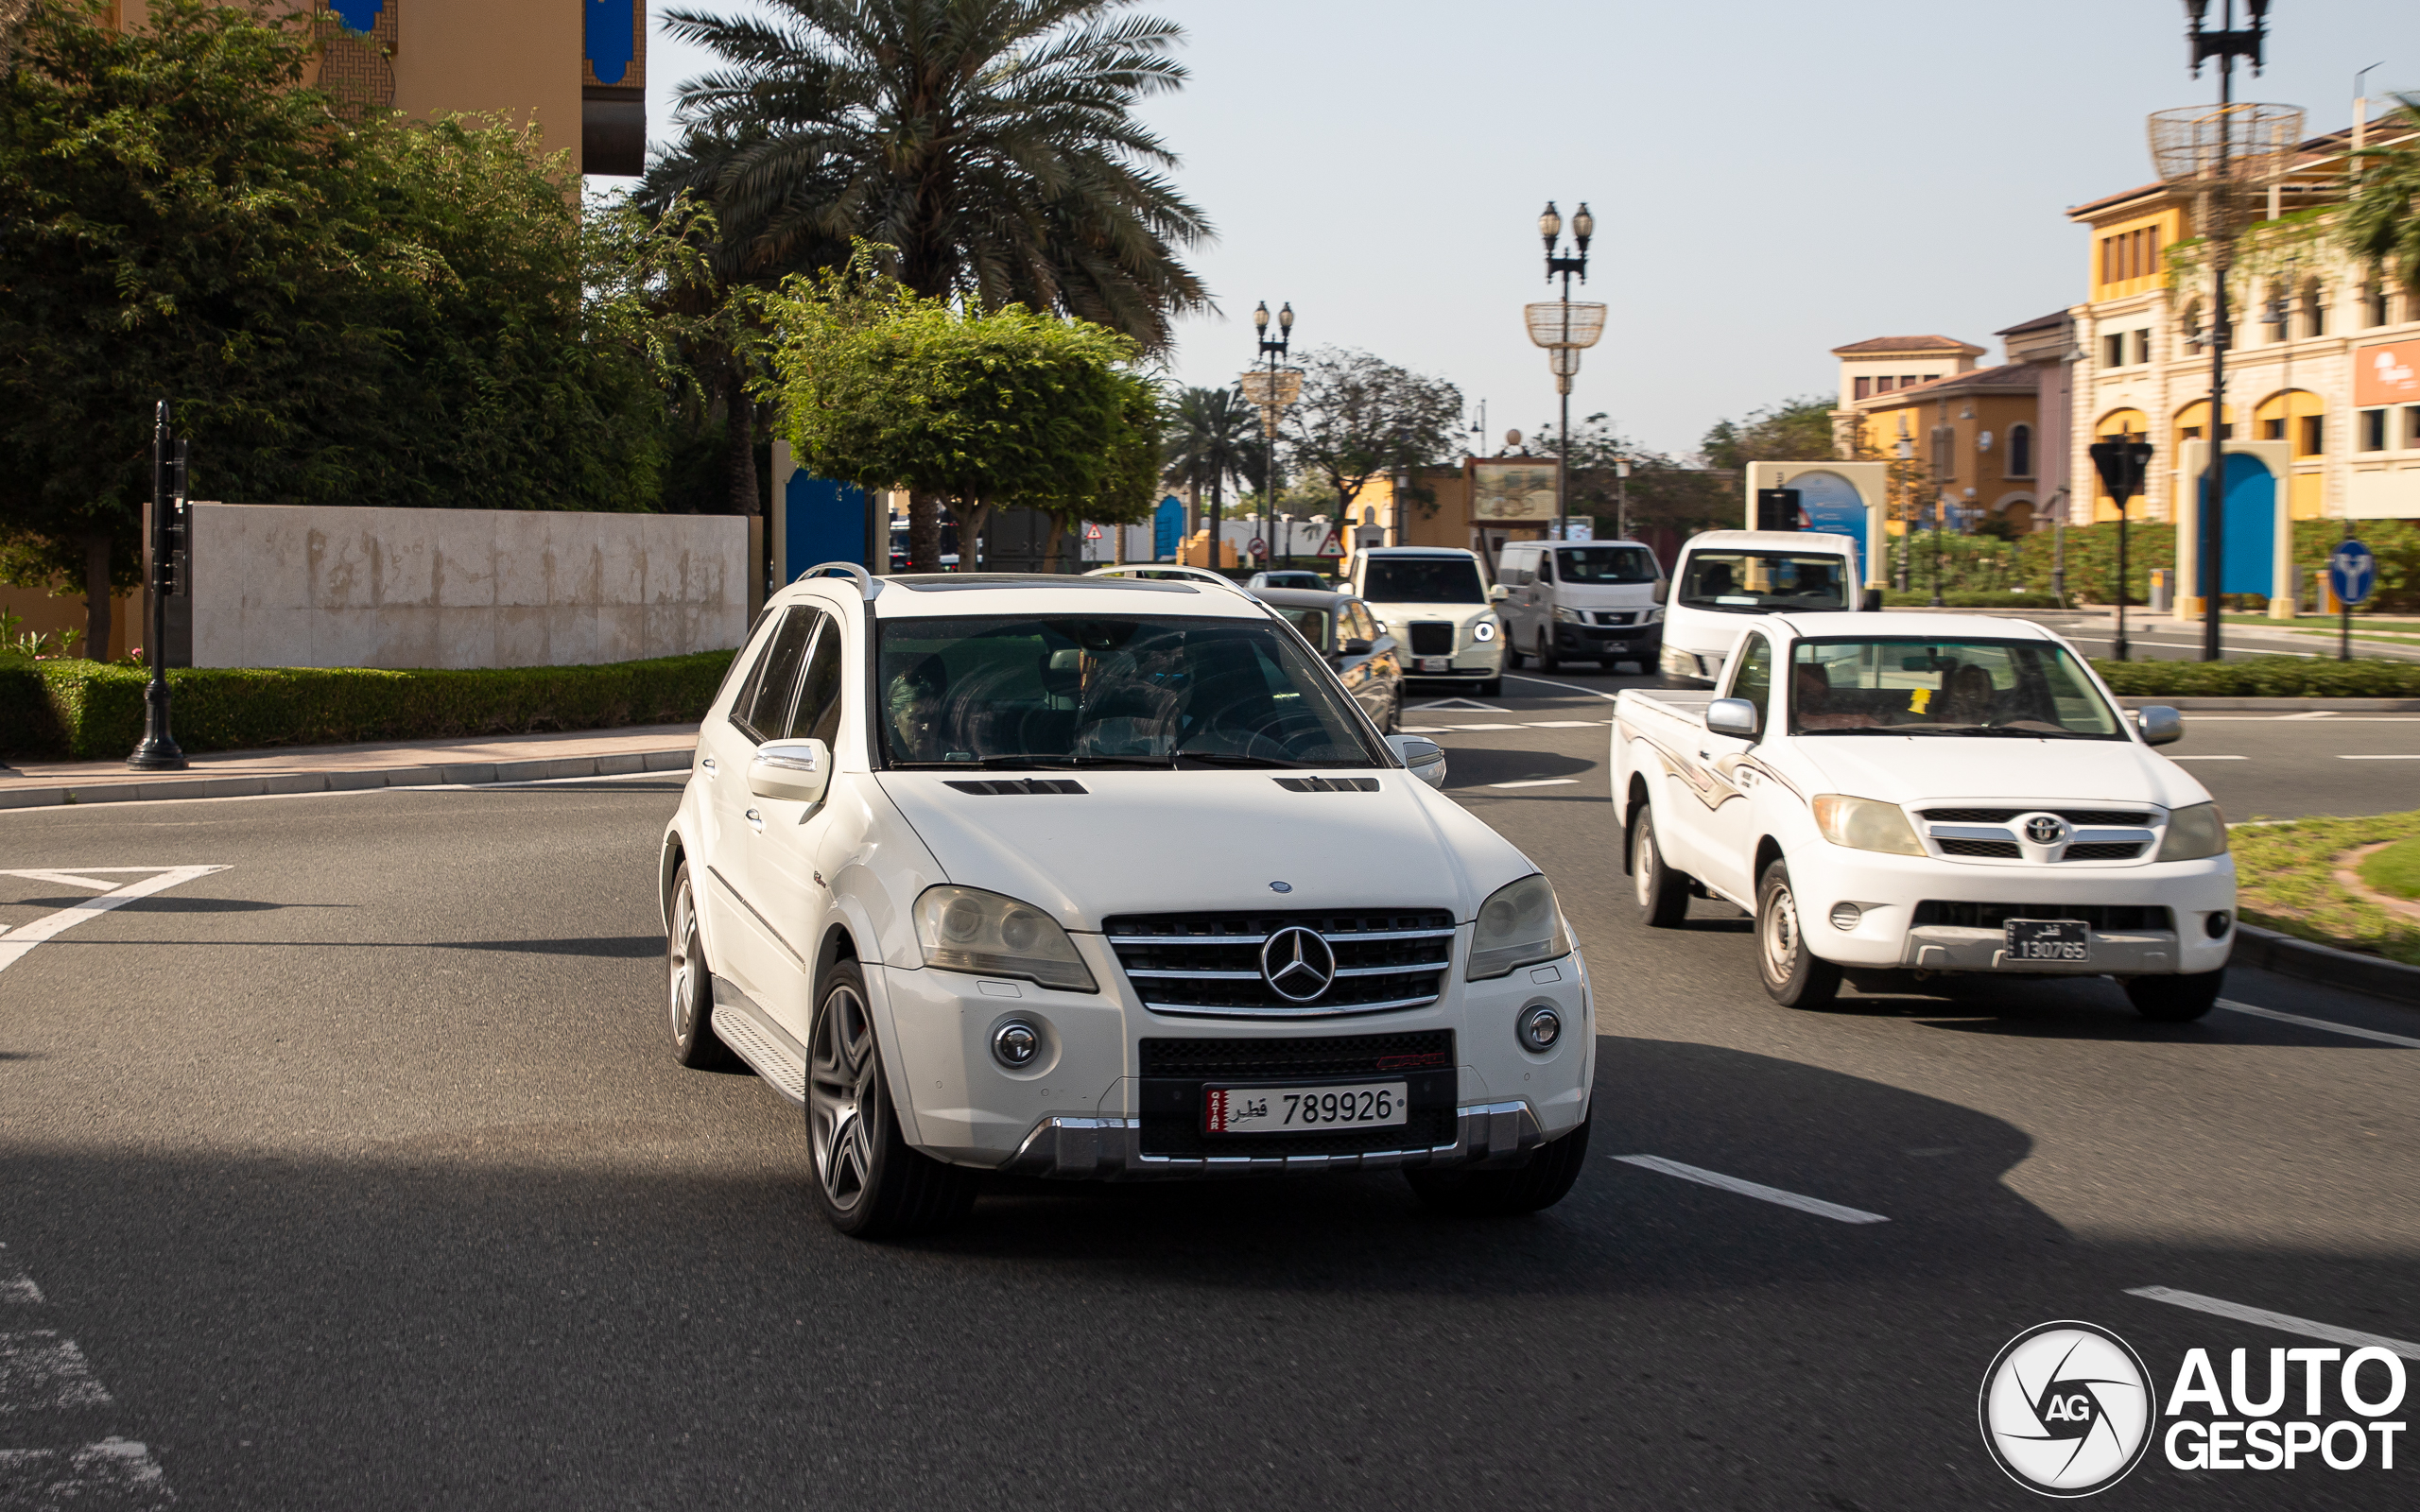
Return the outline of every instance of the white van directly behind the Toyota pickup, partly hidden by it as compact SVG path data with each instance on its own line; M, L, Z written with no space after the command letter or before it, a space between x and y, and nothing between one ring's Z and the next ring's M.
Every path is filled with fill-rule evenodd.
M1747 629L1745 614L1861 610L1856 542L1822 530L1709 530L1672 566L1665 602L1665 677L1716 682ZM1880 607L1880 595L1876 595Z

